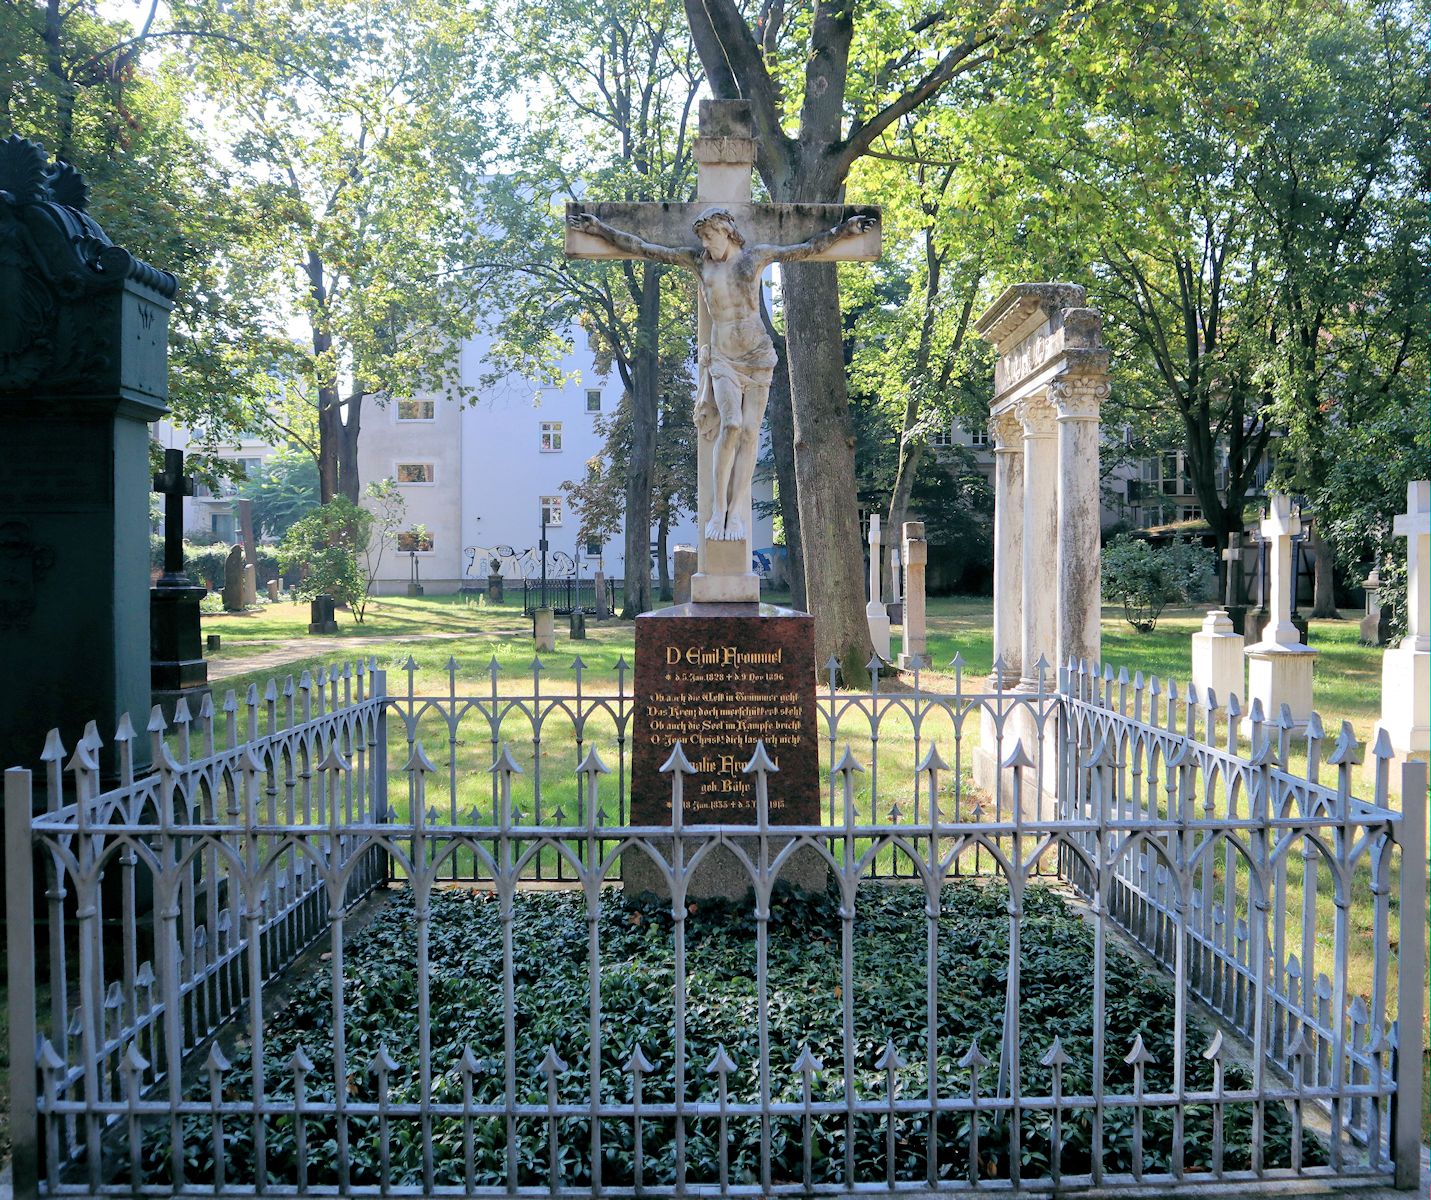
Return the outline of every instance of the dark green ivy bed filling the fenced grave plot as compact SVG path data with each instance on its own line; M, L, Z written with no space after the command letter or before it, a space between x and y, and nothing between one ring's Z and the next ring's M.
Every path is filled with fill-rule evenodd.
M939 915L937 974L939 1030L936 1093L967 1097L970 1046L989 1060L979 1091L997 1087L1005 1028L1009 963L1007 891L997 885L962 882L944 888ZM375 1103L379 1078L372 1066L384 1057L392 1066L386 1088L392 1104L419 1100L416 1064L418 974L414 905L398 890L381 913L345 943L345 1097ZM734 1064L727 1077L731 1103L758 1098L758 1020L756 983L756 921L747 905L703 901L690 908L687 925L687 1097L717 1098L708 1066L718 1048ZM643 1080L643 1104L671 1103L673 1077L673 921L670 905L654 898L628 900L620 891L602 895L597 923L601 968L601 1093L607 1103L631 1100L633 1080L624 1070L640 1046L651 1064ZM1040 1066L1055 1037L1068 1056L1062 1093L1090 1090L1093 1023L1093 935L1085 920L1047 887L1030 887L1025 900L1020 955L1020 1080L1026 1096L1049 1096L1049 1068ZM434 895L431 908L431 1046L436 1103L461 1104L471 1080L478 1104L501 1104L504 1097L502 921L498 901L479 891L449 890ZM545 1106L548 1078L558 1103L584 1104L591 1094L588 924L580 892L528 892L517 897L512 924L515 983L517 1103ZM902 1100L929 1096L926 1043L927 920L923 888L907 884L861 885L853 938L854 1087L859 1096L880 1100L887 1091L890 1060L881 1056L892 1041L904 1063L894 1070ZM811 1076L811 1098L841 1101L841 930L833 895L777 897L768 935L770 1087L776 1101L800 1103L803 1077L797 1067L809 1047L823 1070ZM309 1106L333 1100L333 1013L329 967L318 964L298 978L285 1005L270 1014L265 1034L266 1091L272 1100L292 1096L293 1061L299 1050L311 1060L305 1077ZM1139 961L1109 948L1106 998L1106 1091L1133 1093L1133 1067L1125 1063L1136 1037L1152 1056L1145 1091L1172 1088L1173 997L1169 985ZM1211 1031L1189 1028L1188 1088L1212 1087L1212 1064L1202 1056ZM551 1074L548 1047L564 1071ZM468 1073L464 1074L464 1056ZM223 1076L226 1100L252 1096L252 1048L229 1047L232 1068ZM542 1063L547 1060L548 1073ZM475 1074L472 1066L477 1064ZM809 1066L809 1063L806 1064ZM1236 1064L1226 1067L1226 1088L1249 1083ZM207 1100L212 1080L196 1078L190 1094ZM1265 1111L1268 1166L1291 1161L1291 1117L1281 1106ZM857 1181L887 1179L889 1124L883 1113L853 1118L853 1161ZM675 1176L674 1123L647 1117L641 1123L644 1181L670 1183ZM687 1121L687 1183L718 1179L718 1123ZM348 1157L352 1184L378 1183L386 1156L394 1184L422 1184L424 1133L418 1117L348 1118ZM1065 1174L1086 1171L1092 1128L1085 1113L1065 1110L1060 1123ZM1254 1111L1251 1104L1225 1106L1224 1164L1251 1166ZM844 1113L817 1114L810 1128L810 1170L816 1181L843 1181ZM545 1186L551 1170L552 1127L544 1116L515 1121L518 1183ZM213 1177L213 1123L192 1118L183 1131L186 1176ZM590 1181L590 1121L561 1117L555 1123L558 1170L565 1186ZM634 1174L634 1123L610 1118L601 1128L605 1186L630 1184ZM169 1130L155 1128L146 1140L147 1166L166 1171ZM894 1170L903 1180L922 1180L930 1153L929 1114L900 1114L893 1128ZM225 1136L226 1176L250 1179L253 1123L229 1118ZM1143 1116L1148 1171L1166 1170L1172 1149L1172 1110L1149 1107ZM504 1186L507 1180L507 1121L502 1117L434 1117L431 1146L435 1183L464 1181L467 1138L472 1140L475 1179ZM1023 1111L1020 1169L1027 1177L1049 1173L1052 1118L1049 1111ZM296 1180L299 1130L290 1117L265 1118L269 1179ZM311 1186L336 1183L339 1146L332 1117L311 1116L302 1130ZM386 1146L385 1146L386 1143ZM970 1118L966 1113L939 1118L936 1174L970 1174ZM1211 1106L1189 1106L1182 1137L1189 1173L1212 1166ZM773 1180L796 1181L804 1173L806 1127L801 1116L777 1117L771 1127ZM731 1117L728 1124L731 1183L758 1180L758 1121ZM1103 1121L1103 1164L1126 1171L1133 1156L1133 1111L1109 1106ZM1304 1161L1322 1157L1307 1136ZM979 1118L980 1179L1007 1179L1009 1121L985 1113ZM162 1177L162 1176L160 1176Z

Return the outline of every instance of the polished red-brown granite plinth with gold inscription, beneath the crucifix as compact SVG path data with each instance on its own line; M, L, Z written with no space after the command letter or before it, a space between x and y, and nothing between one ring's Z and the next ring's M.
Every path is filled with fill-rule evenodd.
M744 768L757 741L778 768L767 781L770 822L819 824L813 616L753 604L643 614L635 622L634 699L631 824L670 828L671 777L661 767L677 741L695 768L684 779L685 827L756 824L756 779ZM800 852L781 878L821 890L824 860ZM667 892L660 868L640 852L622 855L622 882L630 891ZM738 860L717 850L690 894L740 898L748 888Z

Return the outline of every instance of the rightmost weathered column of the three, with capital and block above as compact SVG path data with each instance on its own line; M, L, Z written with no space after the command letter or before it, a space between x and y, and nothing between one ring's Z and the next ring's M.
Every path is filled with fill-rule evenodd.
M1055 667L1100 656L1100 521L1098 412L1108 396L1108 352L1098 348L1095 309L1063 313L1069 372L1049 385L1059 426L1058 638ZM1076 355L1076 358L1075 358Z

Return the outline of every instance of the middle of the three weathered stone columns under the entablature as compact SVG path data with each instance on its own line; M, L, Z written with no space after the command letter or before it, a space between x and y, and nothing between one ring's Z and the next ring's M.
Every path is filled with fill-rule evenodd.
M1027 396L1015 405L1023 425L1023 634L1020 684L1035 688L1039 659L1047 662L1043 685L1058 681L1058 562L1059 488L1055 409L1046 396Z

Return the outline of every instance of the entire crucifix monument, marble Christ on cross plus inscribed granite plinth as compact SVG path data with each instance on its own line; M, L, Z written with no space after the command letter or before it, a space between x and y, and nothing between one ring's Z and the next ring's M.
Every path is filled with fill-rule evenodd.
M760 604L751 566L751 476L776 350L760 315L761 276L781 262L869 262L880 255L879 209L757 205L754 123L746 100L705 100L694 144L693 203L572 203L567 255L645 259L695 276L698 380L695 574L690 602L637 618L631 822L670 827L671 781L660 768L680 741L694 768L683 787L687 824L754 824L757 742L776 771L771 824L820 821L814 707L814 618ZM691 894L744 895L727 854ZM823 860L784 874L823 887ZM622 862L628 890L664 891L641 855ZM809 875L809 878L806 878Z

